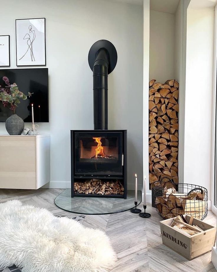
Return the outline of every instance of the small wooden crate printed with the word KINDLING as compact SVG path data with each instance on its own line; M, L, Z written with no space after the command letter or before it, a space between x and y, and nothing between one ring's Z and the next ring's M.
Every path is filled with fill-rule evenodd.
M190 216L184 215L184 217L189 223ZM216 241L216 227L194 218L193 225L199 226L204 232L190 235L171 227L170 225L174 219L170 218L160 222L163 245L171 248L188 260L211 251Z

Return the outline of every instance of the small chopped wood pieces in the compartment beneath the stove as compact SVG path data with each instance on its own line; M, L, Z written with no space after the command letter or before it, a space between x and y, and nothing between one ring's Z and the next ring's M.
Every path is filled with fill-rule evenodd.
M86 179L85 182L74 182L74 192L86 195L124 195L124 186L119 180Z

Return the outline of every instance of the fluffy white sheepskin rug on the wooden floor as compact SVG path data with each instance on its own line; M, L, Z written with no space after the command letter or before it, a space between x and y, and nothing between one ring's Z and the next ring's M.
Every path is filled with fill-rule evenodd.
M22 272L106 272L115 260L100 230L19 200L0 204L0 269L16 265Z

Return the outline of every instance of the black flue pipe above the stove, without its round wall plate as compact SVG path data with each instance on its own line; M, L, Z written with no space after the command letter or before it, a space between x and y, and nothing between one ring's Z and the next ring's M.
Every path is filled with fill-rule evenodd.
M93 64L94 129L108 129L108 64L108 51L99 49Z

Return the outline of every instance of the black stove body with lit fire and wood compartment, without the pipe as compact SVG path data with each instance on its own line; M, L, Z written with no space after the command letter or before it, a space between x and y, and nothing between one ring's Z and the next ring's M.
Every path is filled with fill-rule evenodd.
M72 197L126 198L126 130L71 130Z

